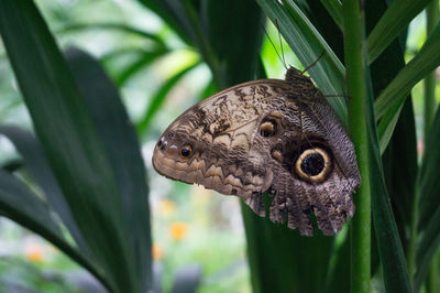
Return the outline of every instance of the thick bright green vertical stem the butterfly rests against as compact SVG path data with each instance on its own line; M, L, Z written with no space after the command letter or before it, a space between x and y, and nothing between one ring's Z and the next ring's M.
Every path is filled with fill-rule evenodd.
M342 2L349 93L349 127L355 145L362 185L355 195L356 214L351 227L351 292L370 292L371 192L366 129L366 85L363 67L364 12L359 0ZM365 63L366 64L366 63Z

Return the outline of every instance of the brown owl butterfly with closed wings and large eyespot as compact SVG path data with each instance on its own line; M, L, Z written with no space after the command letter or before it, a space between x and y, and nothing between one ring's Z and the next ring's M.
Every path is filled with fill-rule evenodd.
M162 134L153 166L166 177L237 195L265 216L312 236L353 216L360 183L349 135L309 77L290 67L286 79L233 86L189 108Z

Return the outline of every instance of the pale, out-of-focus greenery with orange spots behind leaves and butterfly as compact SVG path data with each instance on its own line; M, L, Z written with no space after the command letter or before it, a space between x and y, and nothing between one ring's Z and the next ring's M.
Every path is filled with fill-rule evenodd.
M200 270L198 292L251 292L239 200L162 177L151 164L154 144L166 127L215 93L210 70L198 53L136 1L35 2L63 48L75 45L101 61L136 126L151 188L154 265L163 274L164 291L172 287L179 270ZM272 43L265 37L261 54L268 76L283 78L285 73L275 48L284 52L287 64L302 67L286 44L280 48L276 28L268 25L266 30ZM421 14L408 32L408 59L425 41L425 32ZM437 90L440 97L439 86ZM31 129L1 42L0 93L0 124ZM413 98L418 133L422 132L418 121L421 95L421 87L416 86ZM422 152L421 142L418 149ZM0 163L14 160L19 155L13 145L0 137ZM8 283L29 292L75 292L81 280L88 279L91 276L86 271L44 239L0 218L0 285Z

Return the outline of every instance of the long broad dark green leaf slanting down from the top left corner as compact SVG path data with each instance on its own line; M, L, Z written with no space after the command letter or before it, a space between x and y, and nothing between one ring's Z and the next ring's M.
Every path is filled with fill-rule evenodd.
M145 193L138 194L144 204L127 217L132 198L122 193L106 141L33 2L0 1L0 32L35 131L74 218L108 278L106 285L116 292L145 291L151 279L138 270L143 260L138 246L144 242L133 247L132 231L142 227L148 234L148 221L129 221L139 209L148 217ZM106 120L110 129L112 119ZM133 180L143 182L144 177ZM150 246L142 249L150 253Z

